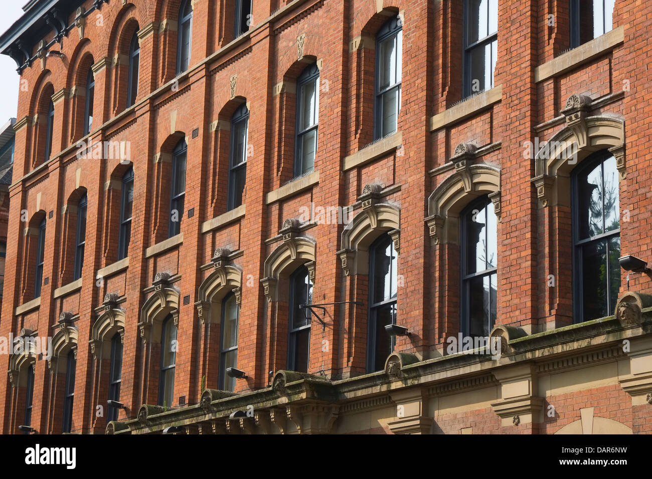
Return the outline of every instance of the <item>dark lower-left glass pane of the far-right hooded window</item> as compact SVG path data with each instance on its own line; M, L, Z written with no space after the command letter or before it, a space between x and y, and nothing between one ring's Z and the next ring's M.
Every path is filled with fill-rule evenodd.
M608 315L606 244L607 240L600 240L581 249L584 321Z

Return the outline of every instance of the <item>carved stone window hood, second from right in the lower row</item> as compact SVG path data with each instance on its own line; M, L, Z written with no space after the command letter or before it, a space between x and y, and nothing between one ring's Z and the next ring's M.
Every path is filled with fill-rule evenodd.
M477 147L462 143L451 158L454 173L442 181L428 198L426 218L434 244L457 241L458 215L475 197L487 195L494 203L497 220L501 217L500 169L486 163L473 163Z

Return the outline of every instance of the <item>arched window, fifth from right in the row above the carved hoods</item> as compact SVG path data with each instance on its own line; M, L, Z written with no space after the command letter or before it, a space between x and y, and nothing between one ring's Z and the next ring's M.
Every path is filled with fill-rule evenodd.
M246 105L235 111L231 118L231 158L229 161L229 203L232 210L243 204L246 181L246 148L249 110Z

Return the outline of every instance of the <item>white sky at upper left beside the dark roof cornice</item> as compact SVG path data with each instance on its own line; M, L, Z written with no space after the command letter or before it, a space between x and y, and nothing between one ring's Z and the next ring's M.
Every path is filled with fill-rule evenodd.
M0 33L5 33L22 16L23 9L21 7L25 3L27 3L26 0L3 1ZM16 118L19 78L16 72L16 62L7 55L0 55L0 124L7 123L10 118Z

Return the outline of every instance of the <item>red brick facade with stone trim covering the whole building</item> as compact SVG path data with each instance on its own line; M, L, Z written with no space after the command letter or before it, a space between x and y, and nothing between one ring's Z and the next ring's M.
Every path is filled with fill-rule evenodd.
M462 2L256 0L250 30L234 39L231 2L194 0L190 68L175 76L179 3L99 2L63 38L63 58L40 55L22 71L0 333L20 336L24 328L54 337L56 354L50 361L0 355L0 370L9 371L0 381L4 433L22 424L31 363L31 426L61 433L71 347L72 432L104 433L113 334L123 336L126 407L108 429L115 433L170 425L202 433L555 433L591 408L591 418L651 432L651 278L632 274L628 290L621 271L618 297L638 300L632 321L612 315L574 323L572 167L524 158L535 138L570 138L580 144L580 163L609 149L619 162L621 215L629 215L621 220L621 252L650 257L652 46L645 32L652 20L644 7L616 1L614 29L567 51L569 1L499 0L494 88L464 99ZM87 12L95 3L81 5ZM76 12L63 14L74 25ZM374 143L375 36L394 16L403 36L401 109L396 133ZM126 108L134 32L140 76L135 104ZM297 78L312 63L319 67L318 152L314 172L293 180ZM84 136L91 66L93 126ZM49 98L55 126L44 160ZM230 119L242 104L250 115L246 190L243 206L229 211ZM181 234L168 239L171 156L183 138L185 211ZM121 178L130 165L104 154L79 158L79 141L129 145L128 259L117 261ZM83 194L85 259L73 282ZM447 338L460 332L458 216L484 194L499 216L500 327L492 336L505 349L500 358L450 356ZM287 222L311 203L352 207L353 227ZM47 282L35 302L43 218ZM382 233L398 252L397 323L411 335L396 338L402 355L387 371L365 375L367 250ZM326 306L323 328L313 319L308 375L283 372L289 275L302 264L314 278L314 303L348 302ZM247 376L237 380L236 396L216 392L219 310L230 291L241 308L237 368ZM178 323L175 402L162 412L141 405L157 402L169 313ZM623 350L623 340L631 348ZM249 405L251 421L229 418Z

